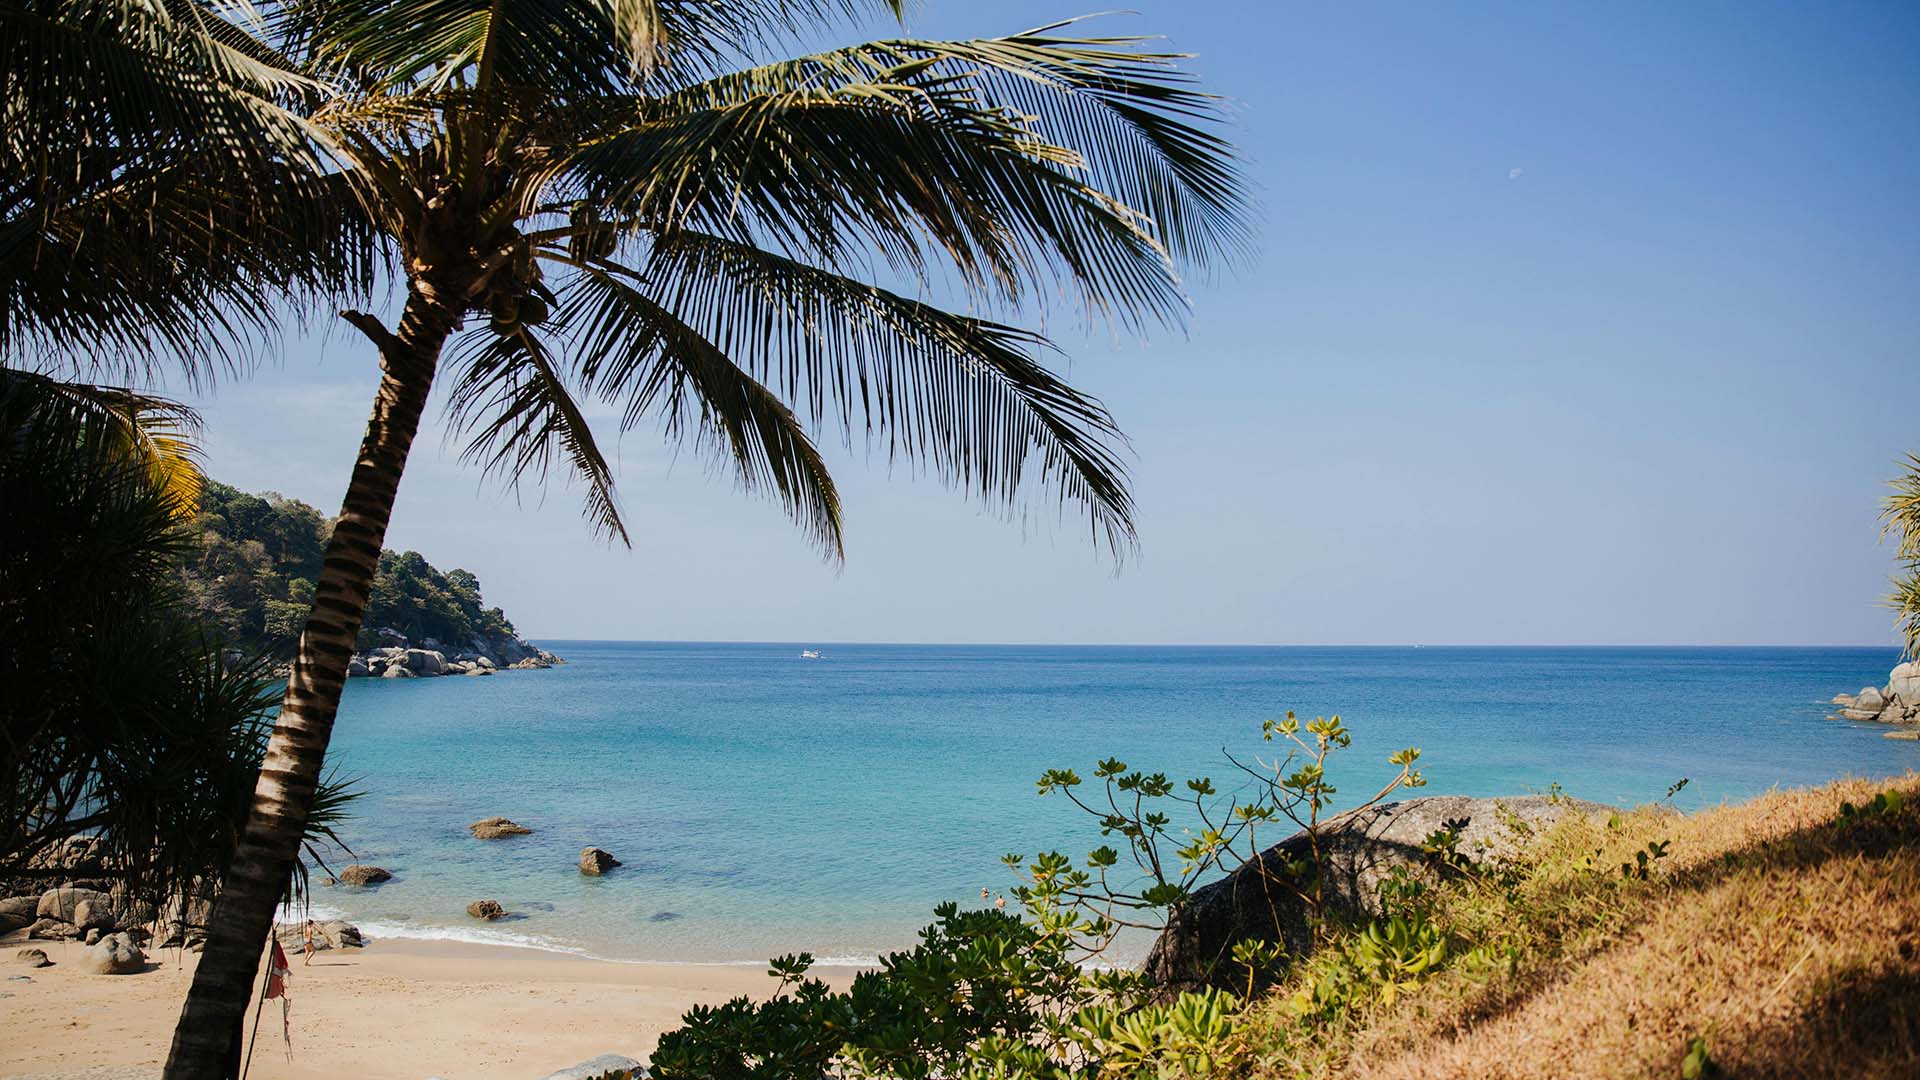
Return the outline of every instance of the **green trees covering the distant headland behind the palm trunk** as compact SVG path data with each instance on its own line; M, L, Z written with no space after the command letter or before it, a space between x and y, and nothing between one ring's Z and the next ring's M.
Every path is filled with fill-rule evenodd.
M184 561L192 605L234 648L290 657L330 530L332 521L300 500L209 482ZM507 615L480 600L480 578L440 573L419 552L380 552L359 648L378 646L382 628L449 650L515 636Z

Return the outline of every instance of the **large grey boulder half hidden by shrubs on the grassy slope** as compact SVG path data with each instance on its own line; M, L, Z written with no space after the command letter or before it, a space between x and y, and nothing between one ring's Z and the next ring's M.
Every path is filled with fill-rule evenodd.
M1394 867L1425 865L1421 844L1450 822L1465 822L1457 851L1484 863L1519 851L1528 834L1567 815L1607 809L1548 796L1430 796L1344 813L1321 826L1323 899L1338 919L1379 915L1380 882ZM1148 951L1148 978L1171 990L1206 984L1244 990L1246 969L1233 963L1236 942L1281 942L1294 955L1308 953L1313 945L1308 905L1286 884L1286 867L1309 857L1308 834L1296 832L1258 861L1194 890Z

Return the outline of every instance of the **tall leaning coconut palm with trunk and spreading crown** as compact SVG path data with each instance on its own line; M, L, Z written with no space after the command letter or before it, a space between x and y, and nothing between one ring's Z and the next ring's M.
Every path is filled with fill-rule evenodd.
M1108 411L1048 342L985 317L1064 294L1177 321L1177 267L1244 242L1215 100L1139 38L1046 27L749 58L835 0L292 0L278 46L399 252L397 323L300 638L253 815L167 1065L228 1072L321 774L348 657L428 394L509 480L570 469L626 538L578 396L712 450L828 557L841 507L814 430L864 432L1000 505L1035 488L1133 542ZM893 8L893 4L887 4ZM897 13L897 12L895 12ZM947 286L948 311L908 290Z

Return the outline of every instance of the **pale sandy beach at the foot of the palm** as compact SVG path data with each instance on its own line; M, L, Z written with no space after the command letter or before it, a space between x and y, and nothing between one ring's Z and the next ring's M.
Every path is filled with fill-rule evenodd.
M54 967L13 961L25 945ZM84 974L77 942L0 951L0 1076L159 1076L194 953L161 949L144 974ZM372 942L292 955L292 1061L267 1003L257 1080L538 1080L601 1053L641 1061L689 1005L766 995L764 967L643 965L449 942ZM25 974L29 980L12 976ZM852 969L818 969L835 986ZM252 1024L252 1017L248 1020Z

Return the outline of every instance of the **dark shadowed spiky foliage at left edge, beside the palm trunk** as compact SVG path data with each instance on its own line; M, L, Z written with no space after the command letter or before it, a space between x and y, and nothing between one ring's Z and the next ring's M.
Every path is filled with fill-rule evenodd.
M211 890L232 861L271 728L271 675L227 663L182 601L177 525L192 484L179 405L0 379L0 876L94 838L132 897ZM326 836L346 792L307 819Z

